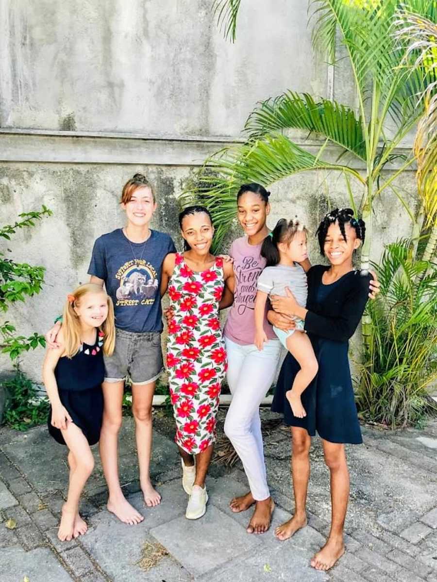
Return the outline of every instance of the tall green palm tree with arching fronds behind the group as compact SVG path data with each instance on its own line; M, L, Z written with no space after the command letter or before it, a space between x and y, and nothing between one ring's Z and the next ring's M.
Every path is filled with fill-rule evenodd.
M214 2L218 25L232 40L240 4L241 0ZM434 0L407 0L406 5L410 12L437 20ZM351 180L361 187L361 212L368 232L361 267L369 268L372 202L390 189L405 205L394 181L413 164L414 155L411 151L400 157L396 148L423 112L423 102L417 107L417 95L437 76L436 69L408 66L416 49L408 51L394 37L398 6L397 0L311 0L315 19L313 44L334 63L339 34L350 61L358 107L355 110L337 101L292 90L258 104L246 121L246 143L225 148L207 159L198 175L201 186L186 191L186 197L200 197L212 212L216 247L235 217L235 194L241 183L267 185L298 172L337 171L346 179L350 196ZM284 134L288 129L305 130L322 138L318 154L294 143ZM324 158L328 144L341 148L342 159L330 162ZM353 158L364 163L364 172L353 167ZM401 159L400 167L384 176L383 169L395 158Z

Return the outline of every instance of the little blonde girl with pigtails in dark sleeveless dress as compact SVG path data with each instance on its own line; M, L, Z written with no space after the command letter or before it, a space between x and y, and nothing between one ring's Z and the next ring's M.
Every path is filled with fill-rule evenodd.
M68 496L58 530L59 540L69 541L87 530L79 498L94 468L90 445L100 437L103 353L111 355L115 343L112 300L99 285L81 285L68 295L63 321L61 347L47 350L43 380L51 404L48 430L69 449Z

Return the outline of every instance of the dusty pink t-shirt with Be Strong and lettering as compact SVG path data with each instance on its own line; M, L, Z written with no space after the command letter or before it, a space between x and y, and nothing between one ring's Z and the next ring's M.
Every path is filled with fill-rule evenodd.
M255 339L256 282L266 266L266 260L260 254L261 246L262 243L249 244L246 236L234 240L231 244L230 255L234 259L235 293L234 303L224 326L224 335L239 345L251 345ZM267 338L276 339L266 315L264 331Z

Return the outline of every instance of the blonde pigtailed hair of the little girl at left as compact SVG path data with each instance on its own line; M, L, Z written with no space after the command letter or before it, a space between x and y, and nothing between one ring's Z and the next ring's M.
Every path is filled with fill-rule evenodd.
M64 333L64 353L68 358L72 358L79 352L80 345L80 321L79 316L74 310L79 307L80 300L88 293L104 293L108 304L108 315L103 324L98 328L104 333L103 352L106 356L111 356L115 346L115 325L114 325L114 306L111 297L108 296L104 289L96 283L86 283L80 285L68 296L62 312L62 331Z

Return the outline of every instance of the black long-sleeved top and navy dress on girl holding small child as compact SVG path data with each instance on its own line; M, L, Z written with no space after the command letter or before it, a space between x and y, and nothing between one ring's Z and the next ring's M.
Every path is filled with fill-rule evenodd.
M299 364L288 353L281 367L272 410L284 414L286 424L302 427L313 436L334 443L362 442L348 361L348 340L360 323L368 299L371 275L350 271L330 285L322 283L329 267L308 271L305 331L319 363L316 378L302 393L305 418L296 418L286 399Z

